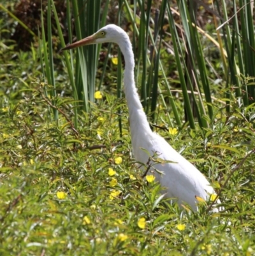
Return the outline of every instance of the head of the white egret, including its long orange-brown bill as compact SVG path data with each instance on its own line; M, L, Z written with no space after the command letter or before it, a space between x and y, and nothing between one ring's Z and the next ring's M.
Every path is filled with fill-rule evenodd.
M116 25L110 24L102 27L98 32L92 34L91 36L88 36L87 38L84 38L80 41L76 41L75 43L71 43L61 50L69 50L84 45L92 45L95 43L119 43L120 39L123 40L123 34L126 35L123 29Z

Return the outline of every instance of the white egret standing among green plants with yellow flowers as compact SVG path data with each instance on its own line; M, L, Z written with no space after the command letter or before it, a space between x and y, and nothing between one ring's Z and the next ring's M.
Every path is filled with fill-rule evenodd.
M215 193L214 189L194 165L175 151L163 137L150 130L135 86L135 59L128 34L120 27L110 24L87 38L67 45L62 50L106 42L117 43L125 59L124 91L128 103L131 141L136 161L144 164L148 162L149 156L143 149L146 149L150 156L157 154L158 158L165 160L165 163L154 163L149 172L156 176L156 180L163 188L166 188L166 197L175 198L180 206L187 203L196 211L198 204L196 198L208 200L210 195Z

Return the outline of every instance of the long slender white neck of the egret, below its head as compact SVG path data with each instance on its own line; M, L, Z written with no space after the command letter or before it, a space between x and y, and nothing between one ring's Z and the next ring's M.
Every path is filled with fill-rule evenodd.
M128 34L126 34L124 31L122 34L123 38L121 41L118 42L118 44L125 59L124 91L128 103L131 139L136 140L138 139L138 137L135 137L135 134L136 136L140 134L139 131L143 132L142 135L146 136L152 133L152 130L150 130L147 116L143 111L142 103L140 102L140 98L135 87L135 59L132 45L129 40Z

